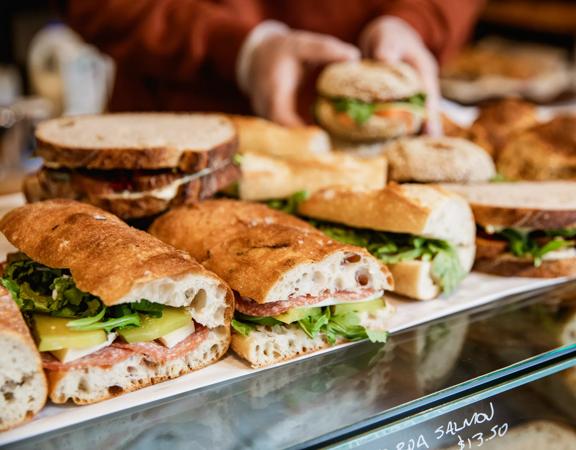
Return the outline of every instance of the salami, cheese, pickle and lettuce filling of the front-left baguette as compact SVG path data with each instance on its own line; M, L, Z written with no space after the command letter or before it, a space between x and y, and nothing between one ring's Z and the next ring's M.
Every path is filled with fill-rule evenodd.
M9 255L1 282L32 329L48 370L76 367L89 355L110 352L115 357L143 353L160 362L191 351L207 332L186 308L154 299L106 306L78 289L69 270L44 266L23 253Z

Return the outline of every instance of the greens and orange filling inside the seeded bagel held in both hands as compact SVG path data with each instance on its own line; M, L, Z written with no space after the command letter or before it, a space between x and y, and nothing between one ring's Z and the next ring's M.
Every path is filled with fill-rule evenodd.
M337 113L342 125L362 126L373 116L383 118L397 118L412 125L413 115L424 115L426 96L423 93L415 94L405 99L388 102L365 102L348 97L326 98Z

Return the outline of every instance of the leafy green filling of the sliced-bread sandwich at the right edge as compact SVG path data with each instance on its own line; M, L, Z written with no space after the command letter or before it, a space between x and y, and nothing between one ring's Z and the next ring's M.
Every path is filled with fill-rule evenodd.
M546 260L576 257L576 228L534 230L479 227L478 238L480 243L484 243L478 246L479 257L510 253L517 258L533 261L535 267Z

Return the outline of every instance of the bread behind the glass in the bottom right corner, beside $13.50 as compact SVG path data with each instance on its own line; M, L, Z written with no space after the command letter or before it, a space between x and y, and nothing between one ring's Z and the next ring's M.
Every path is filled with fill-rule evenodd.
M484 441L483 450L573 450L576 431L552 420L534 420L516 425L497 439ZM447 450L461 448L458 445Z

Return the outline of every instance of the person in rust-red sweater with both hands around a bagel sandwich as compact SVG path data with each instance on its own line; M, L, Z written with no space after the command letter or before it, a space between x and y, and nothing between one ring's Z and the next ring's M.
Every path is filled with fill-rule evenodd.
M60 0L68 23L117 63L112 111L254 112L298 125L311 68L361 56L412 64L438 134L437 61L483 0ZM240 95L243 93L245 95ZM304 114L303 114L304 111ZM300 112L300 114L299 114Z

